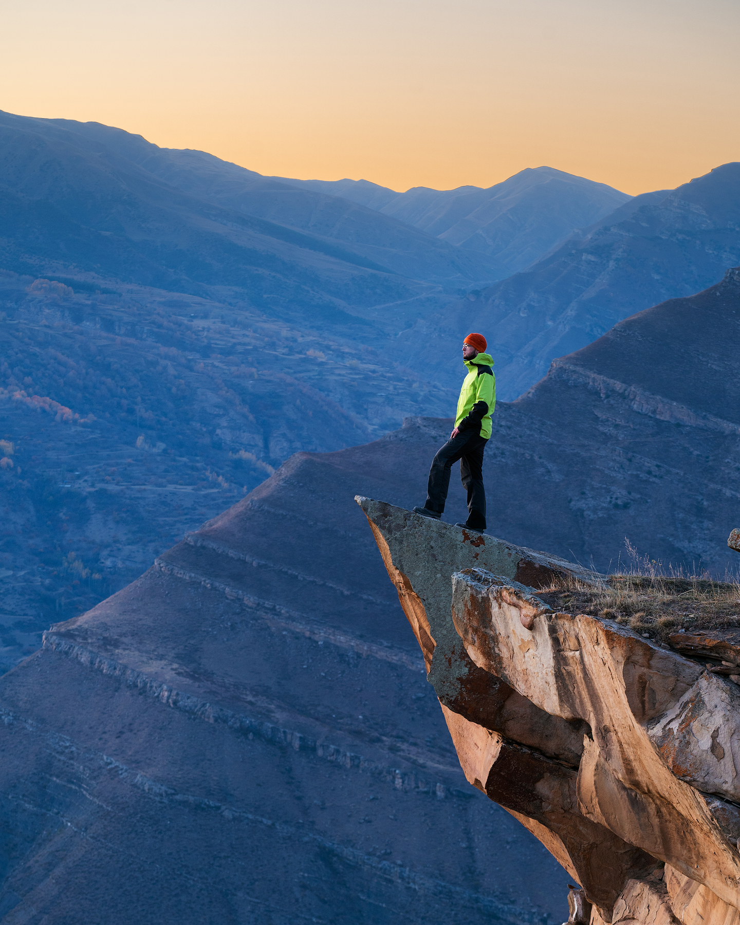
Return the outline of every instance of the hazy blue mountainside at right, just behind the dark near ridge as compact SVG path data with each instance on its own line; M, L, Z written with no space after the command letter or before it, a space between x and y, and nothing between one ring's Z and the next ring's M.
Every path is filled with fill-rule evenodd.
M458 327L495 339L501 398L628 315L704 290L740 263L740 163L637 200L461 303Z

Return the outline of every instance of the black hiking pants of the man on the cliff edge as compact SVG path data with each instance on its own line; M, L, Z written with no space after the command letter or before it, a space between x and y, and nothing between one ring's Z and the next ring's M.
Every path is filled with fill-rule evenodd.
M463 430L450 438L438 451L429 469L425 508L441 514L450 487L452 463L460 460L462 487L468 493L467 525L476 530L486 529L486 489L483 487L483 452L487 438L474 430Z

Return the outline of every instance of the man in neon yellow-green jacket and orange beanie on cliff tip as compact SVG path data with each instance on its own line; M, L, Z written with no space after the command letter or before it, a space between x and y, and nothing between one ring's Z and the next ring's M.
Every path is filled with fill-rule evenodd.
M468 493L468 519L455 524L483 533L486 529L486 489L483 487L483 452L491 436L491 414L496 406L496 376L493 359L486 352L482 334L468 334L462 341L462 360L468 369L457 402L455 429L438 451L429 470L429 484L423 508L415 514L439 520L445 510L450 487L450 468L460 460L462 487Z

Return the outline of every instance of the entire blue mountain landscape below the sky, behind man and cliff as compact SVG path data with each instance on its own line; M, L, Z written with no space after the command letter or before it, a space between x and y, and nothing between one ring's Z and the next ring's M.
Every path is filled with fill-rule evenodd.
M90 123L0 142L0 919L564 919L468 796L352 498L423 501L479 329L526 389L489 532L733 569L740 165L398 194Z

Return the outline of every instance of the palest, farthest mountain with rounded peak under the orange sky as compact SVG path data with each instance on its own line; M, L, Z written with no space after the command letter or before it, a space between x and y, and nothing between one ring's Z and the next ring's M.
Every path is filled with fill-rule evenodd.
M285 180L309 184L379 208L414 228L475 253L495 279L511 276L543 257L578 228L586 228L631 197L604 183L552 167L527 168L489 187L393 194L366 180Z

